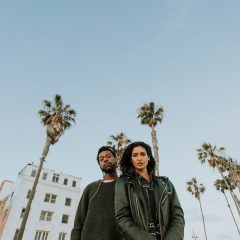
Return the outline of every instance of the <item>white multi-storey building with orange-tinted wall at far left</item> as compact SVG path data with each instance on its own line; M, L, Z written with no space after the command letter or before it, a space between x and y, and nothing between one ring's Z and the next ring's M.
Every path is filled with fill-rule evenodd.
M16 239L36 172L37 166L28 164L19 172L15 183L0 184L0 240ZM77 177L42 169L23 240L70 239L81 196L80 181Z

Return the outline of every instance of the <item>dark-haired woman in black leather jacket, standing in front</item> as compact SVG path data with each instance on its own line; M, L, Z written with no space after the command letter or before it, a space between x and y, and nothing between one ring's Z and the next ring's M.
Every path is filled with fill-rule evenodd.
M115 185L115 218L125 240L182 240L184 216L167 177L154 175L151 147L128 145L120 161L122 176Z

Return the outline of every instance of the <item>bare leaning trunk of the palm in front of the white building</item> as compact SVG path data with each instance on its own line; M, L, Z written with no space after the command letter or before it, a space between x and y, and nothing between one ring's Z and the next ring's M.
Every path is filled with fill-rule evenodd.
M29 199L28 199L27 207L25 209L25 212L24 212L24 215L23 215L23 220L22 220L19 232L18 232L17 240L22 240L22 238L23 238L24 230L25 230L25 227L26 227L29 212L31 210L31 205L32 205L32 201L33 201L33 198L34 198L34 195L35 195L35 192L36 192L36 188L37 188L37 184L38 184L38 181L39 181L40 173L41 173L41 170L42 170L42 167L43 167L44 160L45 160L45 158L48 154L51 142L52 142L52 139L47 137L47 140L46 140L43 152L42 152L42 156L40 158L40 164L38 166L37 174L36 174L36 177L34 179L33 187L31 189L31 193L30 193L30 196L29 196Z

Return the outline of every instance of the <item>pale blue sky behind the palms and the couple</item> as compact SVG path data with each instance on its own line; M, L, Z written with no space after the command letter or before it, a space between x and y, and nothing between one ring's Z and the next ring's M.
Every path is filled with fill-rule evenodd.
M185 239L192 230L204 239L198 202L186 192L194 176L207 188L209 239L238 239L212 187L219 175L200 164L196 149L206 141L240 158L239 7L234 0L1 1L0 180L38 163L43 99L61 94L78 112L45 167L81 177L83 187L101 178L96 153L110 135L151 144L136 110L154 101L165 109L160 173L176 186Z

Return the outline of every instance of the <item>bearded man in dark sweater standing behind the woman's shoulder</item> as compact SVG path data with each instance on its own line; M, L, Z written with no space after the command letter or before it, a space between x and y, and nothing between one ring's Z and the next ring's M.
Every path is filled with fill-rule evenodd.
M103 146L98 150L103 179L84 189L75 216L71 240L120 240L114 216L114 192L117 179L116 151Z

